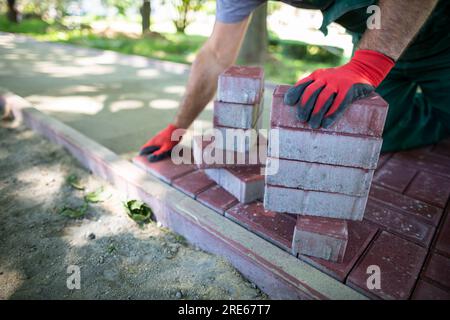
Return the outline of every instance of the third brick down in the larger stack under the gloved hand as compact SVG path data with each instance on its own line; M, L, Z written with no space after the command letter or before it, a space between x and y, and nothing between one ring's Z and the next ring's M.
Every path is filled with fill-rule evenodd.
M276 172L266 176L266 183L271 185L353 196L366 196L373 176L373 170L271 157L266 168Z

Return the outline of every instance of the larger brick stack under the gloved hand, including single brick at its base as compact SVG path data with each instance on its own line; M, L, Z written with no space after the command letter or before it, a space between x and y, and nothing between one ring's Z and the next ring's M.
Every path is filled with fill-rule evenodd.
M377 94L352 103L331 127L311 129L285 105L289 86L273 95L264 207L296 214L292 252L341 261L346 220L362 220L381 149L386 102ZM278 167L278 170L269 170Z

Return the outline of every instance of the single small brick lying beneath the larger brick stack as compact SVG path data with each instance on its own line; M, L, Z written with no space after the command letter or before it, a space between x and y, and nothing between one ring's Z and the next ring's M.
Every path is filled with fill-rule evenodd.
M348 241L347 221L298 216L292 239L292 254L341 262Z

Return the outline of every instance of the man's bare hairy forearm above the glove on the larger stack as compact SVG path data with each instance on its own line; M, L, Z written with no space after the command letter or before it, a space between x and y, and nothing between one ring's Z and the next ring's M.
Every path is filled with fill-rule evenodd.
M430 16L438 0L380 0L381 29L368 29L359 49L374 50L395 61Z

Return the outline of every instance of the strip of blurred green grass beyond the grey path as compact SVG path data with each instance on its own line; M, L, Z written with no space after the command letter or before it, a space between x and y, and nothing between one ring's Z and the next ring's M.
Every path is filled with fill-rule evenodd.
M186 64L192 63L196 52L206 40L203 36L169 33L140 38L126 35L108 37L96 34L89 28L69 29L37 19L12 24L4 16L0 16L0 31L23 33L42 41L70 43ZM340 56L321 47L283 41L272 36L264 68L269 81L294 83L305 73L341 63Z

